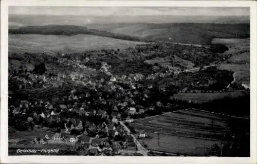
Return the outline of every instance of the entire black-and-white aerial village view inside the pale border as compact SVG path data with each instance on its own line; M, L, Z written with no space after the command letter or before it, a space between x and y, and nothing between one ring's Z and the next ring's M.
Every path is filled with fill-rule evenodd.
M250 157L249 7L9 6L8 154Z

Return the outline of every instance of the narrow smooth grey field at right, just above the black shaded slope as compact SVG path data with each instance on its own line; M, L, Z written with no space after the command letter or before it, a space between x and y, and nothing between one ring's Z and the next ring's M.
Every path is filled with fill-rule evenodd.
M236 91L236 92L219 92L219 93L177 93L173 97L181 100L189 101L193 103L207 103L209 101L220 99L224 97L240 97L249 95L249 92Z

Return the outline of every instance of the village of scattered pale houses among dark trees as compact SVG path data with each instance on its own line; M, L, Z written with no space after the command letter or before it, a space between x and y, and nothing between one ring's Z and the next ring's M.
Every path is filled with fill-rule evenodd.
M107 54L121 53L117 51ZM29 62L40 60L41 64L28 63L27 56ZM59 54L47 56L47 61L47 57L27 56L16 54L10 59L9 124L21 131L41 131L41 135L29 141L33 147L61 145L80 155L145 156L148 145L137 139L148 138L148 132L135 131L130 124L135 119L185 109L192 104L171 98L185 90L183 86L169 86L172 81L159 84L166 77L184 79L179 72L167 68L120 74L115 72L115 65L99 60L103 56L79 58ZM157 66L147 67L151 70Z

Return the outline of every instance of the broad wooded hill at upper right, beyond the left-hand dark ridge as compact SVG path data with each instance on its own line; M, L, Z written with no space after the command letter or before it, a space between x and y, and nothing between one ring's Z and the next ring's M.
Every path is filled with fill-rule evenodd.
M167 23L103 25L112 33L141 36L148 40L209 45L212 38L245 38L250 35L249 24Z

